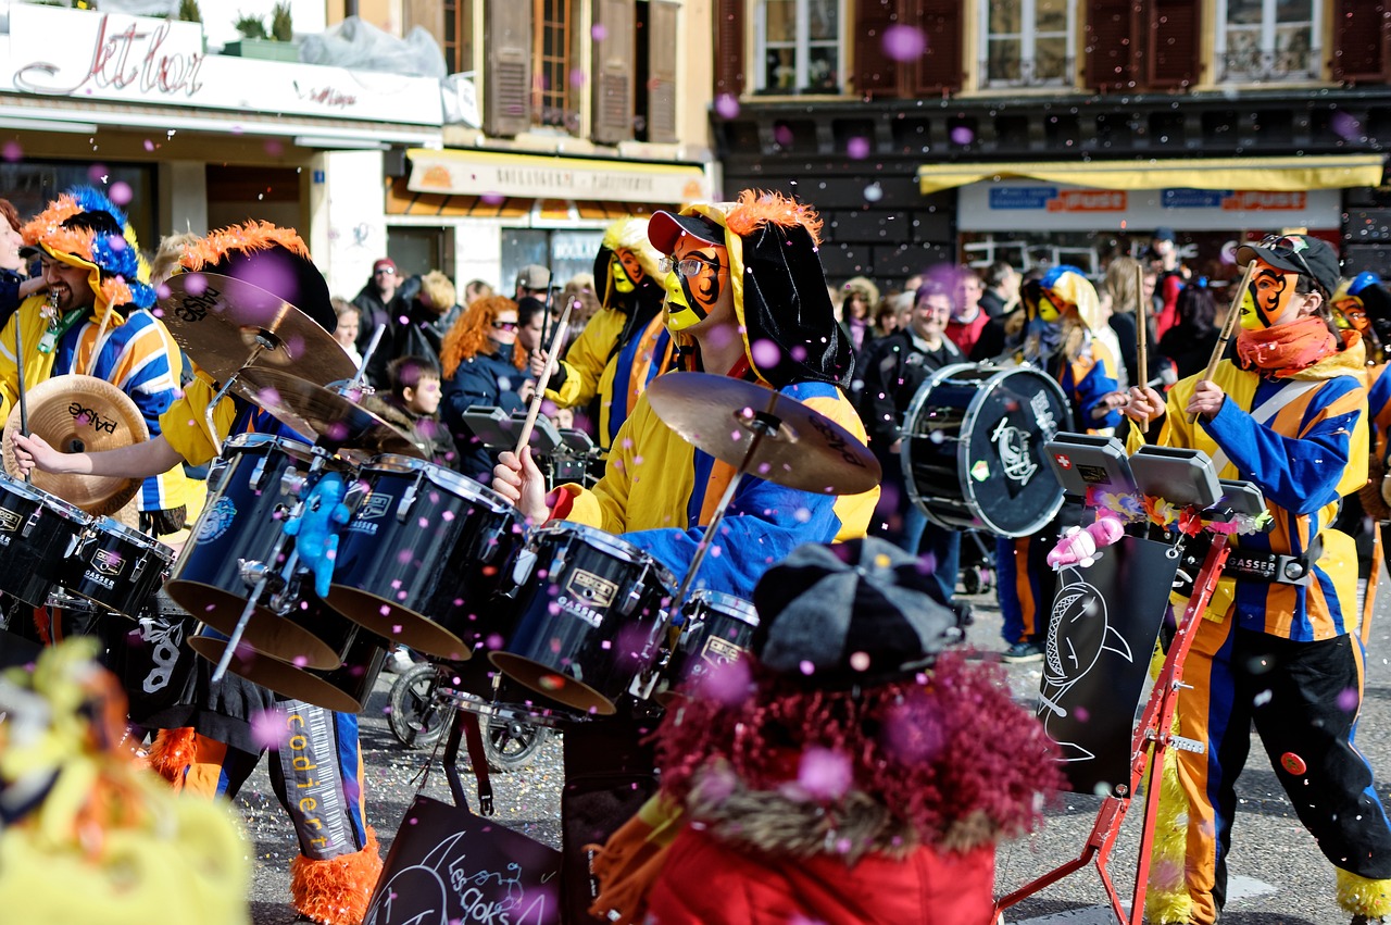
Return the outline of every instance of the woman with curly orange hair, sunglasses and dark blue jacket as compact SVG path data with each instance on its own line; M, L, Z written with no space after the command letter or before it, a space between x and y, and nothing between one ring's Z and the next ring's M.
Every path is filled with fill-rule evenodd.
M470 406L501 408L509 415L524 406L519 394L526 352L517 342L517 303L506 296L479 299L459 316L440 348L444 401L440 415L459 448L459 472L484 484L492 481L495 453L463 421Z

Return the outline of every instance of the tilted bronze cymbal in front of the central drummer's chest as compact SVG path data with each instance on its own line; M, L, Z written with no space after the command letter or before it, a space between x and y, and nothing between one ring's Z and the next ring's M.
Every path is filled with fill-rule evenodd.
M789 488L857 495L879 484L879 460L849 430L794 398L727 376L668 373L647 387L662 421L736 469L758 421L766 433L747 472Z

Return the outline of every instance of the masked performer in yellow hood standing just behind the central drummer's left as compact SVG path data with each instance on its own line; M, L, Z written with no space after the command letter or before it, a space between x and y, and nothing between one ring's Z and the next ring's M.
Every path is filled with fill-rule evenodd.
M647 238L647 218L619 218L608 227L594 259L602 307L551 373L545 394L561 408L584 408L597 399L597 437L605 452L637 396L670 362L661 259ZM544 352L533 367L537 363L544 363Z

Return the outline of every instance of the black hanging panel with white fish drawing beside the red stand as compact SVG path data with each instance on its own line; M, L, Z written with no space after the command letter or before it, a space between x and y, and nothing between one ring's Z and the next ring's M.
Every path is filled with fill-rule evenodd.
M1079 793L1129 785L1131 734L1178 570L1173 547L1124 537L1059 572L1038 716Z

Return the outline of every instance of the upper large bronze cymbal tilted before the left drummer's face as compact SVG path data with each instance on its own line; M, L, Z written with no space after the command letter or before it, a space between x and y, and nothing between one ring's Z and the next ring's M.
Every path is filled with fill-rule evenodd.
M164 284L159 316L193 362L225 383L246 364L292 369L327 385L352 378L357 367L313 319L259 285L218 273L182 273Z

